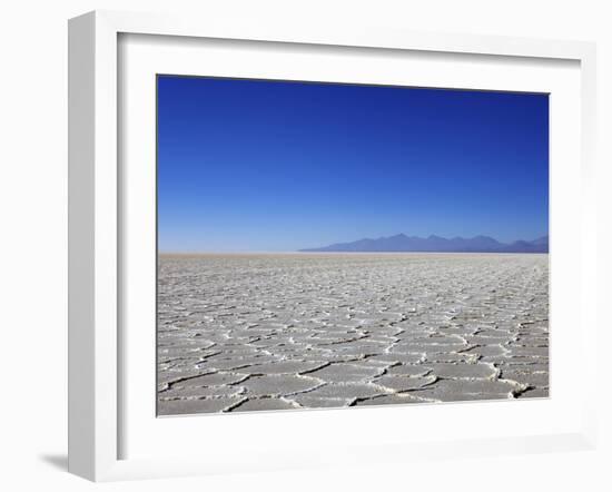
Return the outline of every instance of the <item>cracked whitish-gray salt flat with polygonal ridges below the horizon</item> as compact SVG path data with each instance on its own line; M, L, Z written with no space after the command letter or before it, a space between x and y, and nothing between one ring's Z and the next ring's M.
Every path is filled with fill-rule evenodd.
M549 394L549 255L160 255L160 415Z

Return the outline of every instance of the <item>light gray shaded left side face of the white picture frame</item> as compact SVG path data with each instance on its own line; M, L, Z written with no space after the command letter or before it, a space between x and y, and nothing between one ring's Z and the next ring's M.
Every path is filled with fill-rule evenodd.
M68 471L93 480L96 16L68 23Z

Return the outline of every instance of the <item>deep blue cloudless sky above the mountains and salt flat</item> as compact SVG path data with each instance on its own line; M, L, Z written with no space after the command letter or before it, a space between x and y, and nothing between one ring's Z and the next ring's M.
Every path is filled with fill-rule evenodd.
M546 95L160 76L161 252L549 227Z

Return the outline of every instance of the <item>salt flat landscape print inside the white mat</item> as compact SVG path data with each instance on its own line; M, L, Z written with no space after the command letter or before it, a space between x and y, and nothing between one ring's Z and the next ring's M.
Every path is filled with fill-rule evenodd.
M157 77L157 412L549 395L549 96Z

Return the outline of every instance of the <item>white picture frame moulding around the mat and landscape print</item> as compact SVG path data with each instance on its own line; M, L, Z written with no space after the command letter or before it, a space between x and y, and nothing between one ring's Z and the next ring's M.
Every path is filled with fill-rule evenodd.
M120 289L124 262L129 255L119 254L125 234L120 193L120 148L118 135L120 121L120 94L118 76L121 62L119 38L121 36L171 36L180 39L243 40L249 42L317 46L318 49L376 49L377 52L417 51L427 53L478 55L521 58L537 65L542 60L567 60L580 70L580 175L579 199L575 207L581 234L575 248L576 282L580 291L575 316L579 322L579 342L584 353L595 353L595 199L590 193L594 179L594 114L595 114L595 47L578 41L547 41L501 37L463 35L431 35L388 31L379 28L325 28L278 26L274 22L257 26L233 24L217 19L182 19L167 16L148 16L97 11L70 20L69 23L69 471L89 480L106 481L135 478L171 476L231 472L235 463L223 453L215 462L211 457L185 453L164 456L126 455L121 441L128 432L125 419L126 401L122 384L126 347L121 333ZM176 39L176 38L175 38ZM327 48L326 48L327 47ZM149 136L150 137L150 136ZM561 183L561 181L560 181ZM554 180L553 185L554 186ZM572 197L576 199L575 196ZM554 277L554 270L552 276ZM136 281L138 282L138 281ZM554 279L552 281L554 282ZM576 291L576 292L578 292ZM554 344L553 344L554 345ZM134 346L134 344L132 344ZM553 357L554 357L553 351ZM583 363L583 373L595 373L594 357ZM155 371L154 367L150 371ZM554 376L554 372L552 374ZM466 441L464 436L450 435L446 440L432 439L419 442L418 449L409 441L381 441L371 436L363 445L347 445L347 453L320 452L299 454L296 447L293 459L286 456L274 442L263 444L270 455L276 455L270 469L290 469L296 463L306 466L318 464L359 463L359 450L377 446L378 460L409 461L416 455L442 459L455 452L474 455L552 451L555 449L591 449L595 437L594 378L584 377L576 416L565 427L547 429L543 433L529 431L527 435L477 436ZM578 396L576 396L578 397ZM151 396L152 398L152 396ZM553 395L554 398L554 395ZM501 405L501 403L493 403ZM482 403L478 405L486 405ZM421 407L418 412L427 412ZM463 409L463 410L462 410ZM453 419L470 410L462 405L446 405L445 416ZM501 407L500 407L501 409ZM529 414L533 406L525 409ZM402 407L385 410L386 416L396 419ZM504 412L512 411L510 409ZM545 411L545 409L544 409ZM337 419L332 411L313 412L312 419ZM368 409L381 412L379 409ZM396 415L393 416L391 412ZM576 411L578 412L578 411ZM574 415L574 414L572 414ZM575 415L579 415L575 413ZM155 415L151 416L155 419ZM218 416L210 416L218 417ZM258 419L274 425L274 413L239 416L245 422ZM221 417L224 425L231 425ZM231 419L235 419L234 416ZM286 425L306 420L298 412ZM308 417L310 419L310 417ZM312 420L310 419L310 420ZM344 419L344 417L343 417ZM523 417L524 419L524 417ZM134 420L132 420L134 421ZM175 420L178 421L178 420ZM182 427L189 427L182 421ZM187 422L187 423L185 423ZM211 421L199 420L198 425ZM220 421L219 421L220 422ZM229 422L229 423L228 423ZM237 421L236 421L237 422ZM338 421L339 422L339 421ZM151 427L152 429L152 427ZM184 429L185 431L185 429ZM484 432L484 431L483 431ZM218 437L223 439L223 437ZM402 445L405 444L405 445ZM149 445L149 444L147 444ZM225 460L225 461L224 461ZM259 470L264 465L254 456L244 468ZM264 466L265 468L265 466Z

